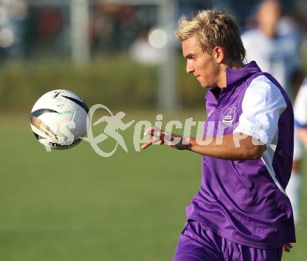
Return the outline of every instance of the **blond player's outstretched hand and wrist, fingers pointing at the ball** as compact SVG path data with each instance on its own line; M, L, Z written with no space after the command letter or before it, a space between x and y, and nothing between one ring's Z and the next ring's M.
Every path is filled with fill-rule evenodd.
M141 146L142 149L147 149L153 143L158 143L159 145L166 143L174 149L188 149L188 138L174 133L167 133L165 130L160 130L155 126L145 130L144 135L152 136L152 138Z

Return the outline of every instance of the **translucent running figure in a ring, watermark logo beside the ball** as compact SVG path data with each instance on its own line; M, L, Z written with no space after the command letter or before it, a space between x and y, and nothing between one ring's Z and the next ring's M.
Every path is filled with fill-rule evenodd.
M110 116L105 115L100 119L98 119L98 121L95 121L93 123L93 126L96 126L101 122L107 123L104 132L96 137L93 137L93 131L91 129L91 119L93 119L93 114L98 108L105 109L107 112L109 112ZM128 124L124 124L122 119L123 117L125 117L125 115L126 115L125 112L117 112L117 114L114 115L105 105L102 104L93 105L93 107L91 107L91 109L89 110L90 119L88 119L87 121L89 130L87 132L87 137L84 137L83 140L89 142L91 144L91 147L93 147L93 149L96 151L96 153L103 157L112 156L117 150L118 145L120 145L124 151L128 152L126 143L123 140L121 134L119 133L119 130L126 130L133 124L134 120L128 122ZM110 152L102 151L100 147L98 147L98 144L100 142L103 142L104 140L107 140L107 138L109 137L116 140L117 144L115 145L114 149Z

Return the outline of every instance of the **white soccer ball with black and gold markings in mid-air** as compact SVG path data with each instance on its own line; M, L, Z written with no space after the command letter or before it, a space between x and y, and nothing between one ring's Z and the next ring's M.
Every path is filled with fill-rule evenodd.
M46 148L68 149L87 134L89 109L71 91L54 90L41 96L30 114L35 137Z

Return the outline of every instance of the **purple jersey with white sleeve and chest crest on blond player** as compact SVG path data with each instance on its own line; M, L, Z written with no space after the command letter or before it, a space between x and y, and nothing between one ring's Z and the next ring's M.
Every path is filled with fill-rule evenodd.
M278 248L295 242L292 207L285 194L293 156L290 99L255 61L241 70L227 68L226 75L227 87L219 97L215 88L207 92L204 136L245 133L267 149L259 160L202 156L202 186L186 209L187 218L245 246Z

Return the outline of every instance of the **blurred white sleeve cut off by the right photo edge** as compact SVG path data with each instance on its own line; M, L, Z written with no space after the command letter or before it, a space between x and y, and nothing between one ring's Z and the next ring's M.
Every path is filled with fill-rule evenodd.
M294 102L295 126L307 128L307 79L299 88Z

